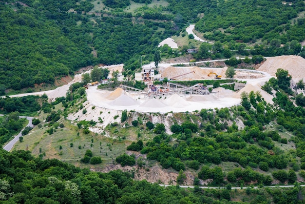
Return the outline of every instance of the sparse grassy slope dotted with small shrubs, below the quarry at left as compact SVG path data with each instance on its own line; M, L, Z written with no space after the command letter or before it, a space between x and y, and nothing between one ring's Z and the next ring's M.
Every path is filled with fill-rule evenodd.
M78 129L67 121L64 125L63 128L56 129L52 135L46 132L47 127L37 128L31 135L24 138L23 143L17 143L14 149L25 149L26 146L23 144L28 144L28 149L35 156L43 154L45 155L43 159L56 158L68 163L78 163L83 167L86 165L79 161L84 157L87 149L90 149L94 156L100 156L106 164L112 163L126 150L127 145L124 141L119 142L95 133L84 134L82 129ZM73 146L71 146L72 143Z

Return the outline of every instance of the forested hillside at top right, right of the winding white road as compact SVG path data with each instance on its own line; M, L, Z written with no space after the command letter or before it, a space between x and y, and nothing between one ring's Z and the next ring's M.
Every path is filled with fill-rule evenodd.
M303 0L229 0L210 1L206 4L204 17L196 23L196 30L207 32L209 40L229 42L253 42L278 39L287 41L305 39L305 23L298 18L304 11ZM223 31L221 31L223 29Z

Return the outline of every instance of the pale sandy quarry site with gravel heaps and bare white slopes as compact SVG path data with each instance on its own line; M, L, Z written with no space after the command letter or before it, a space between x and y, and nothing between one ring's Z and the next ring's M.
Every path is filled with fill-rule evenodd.
M179 81L217 80L214 79L215 75L208 76L210 72L221 75L222 79L225 78L227 67L202 68L195 65L189 66L189 62L185 64L184 67L181 67L172 66L173 63L160 63L159 73L162 78L166 77L168 79L179 76L177 78ZM101 68L108 68L111 72L122 72L123 66L124 64L117 64ZM153 62L144 65L143 69L149 69L152 66ZM134 90L124 86L117 87L114 91L100 90L97 89L97 86L89 86L86 90L87 101L83 104L87 113L83 114L82 110L79 110L70 114L67 119L71 121L93 120L98 122L91 131L101 133L107 124L120 122L120 117L115 118L114 116L121 116L122 110L151 114L152 122L163 122L169 127L172 124L168 124L166 118L171 117L172 113L194 112L197 110L200 111L201 109L214 109L237 105L241 102L240 95L244 91L248 93L252 90L254 92L259 91L264 100L272 104L273 96L262 90L261 86L271 77L275 77L276 70L279 68L288 70L288 73L292 77L292 84L295 84L301 79L305 79L305 59L300 56L291 55L267 58L256 70L236 69L234 80L246 82L244 87L241 87L238 91L218 87L212 89L211 93L209 93L207 90L208 87L203 87L200 84L196 84L194 87L173 87L171 83L166 87L156 85L157 91L153 93L149 92L149 90ZM66 96L70 85L75 82L81 82L81 75L88 72L90 73L90 70L75 75L72 82L60 86L55 90L35 94L46 94L50 101L54 101L57 97ZM33 93L23 95L30 94ZM93 106L95 108L92 108ZM157 113L168 114L166 117L159 117ZM99 118L103 120L102 123L99 123Z

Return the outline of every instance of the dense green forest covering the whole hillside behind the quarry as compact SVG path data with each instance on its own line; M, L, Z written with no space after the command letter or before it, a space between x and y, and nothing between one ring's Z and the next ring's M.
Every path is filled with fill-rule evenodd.
M185 36L189 22L196 23L196 30L206 39L218 43L202 43L196 59L235 54L300 53L305 57L300 44L305 39L304 17L298 17L304 10L302 0L286 4L280 0L168 0L158 7L139 1L143 6L132 12L126 10L129 1L98 1L110 7L101 10L95 10L92 0L6 2L0 2L2 95L9 88L53 84L56 78L88 65L125 63L124 74L131 75L140 67L141 55L144 61L153 61L158 43L173 35ZM86 15L92 10L99 14ZM255 49L245 51L248 42L255 43L251 45ZM177 57L193 47L189 43L177 50L158 50L163 57Z

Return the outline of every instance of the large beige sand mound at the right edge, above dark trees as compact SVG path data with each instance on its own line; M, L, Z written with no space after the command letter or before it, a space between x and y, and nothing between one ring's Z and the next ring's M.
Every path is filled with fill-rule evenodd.
M275 77L276 70L282 68L288 70L292 78L305 78L305 59L295 55L284 55L267 58L258 71L264 71Z

